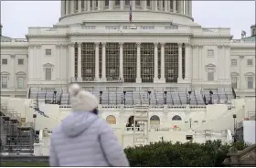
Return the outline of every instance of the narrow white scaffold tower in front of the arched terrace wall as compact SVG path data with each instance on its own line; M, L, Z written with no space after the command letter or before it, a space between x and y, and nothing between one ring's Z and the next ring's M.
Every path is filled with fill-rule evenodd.
M133 118L133 145L148 144L149 132L149 106L136 105L134 106Z

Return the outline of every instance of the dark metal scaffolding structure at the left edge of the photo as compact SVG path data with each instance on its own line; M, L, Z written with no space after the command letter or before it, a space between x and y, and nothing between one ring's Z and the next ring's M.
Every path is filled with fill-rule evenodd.
M1 152L33 153L33 123L22 123L20 113L3 105L0 111L0 125Z

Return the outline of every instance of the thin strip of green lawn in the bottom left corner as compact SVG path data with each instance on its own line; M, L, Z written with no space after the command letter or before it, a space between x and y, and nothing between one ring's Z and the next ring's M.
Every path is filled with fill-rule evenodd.
M1 163L1 167L48 167L48 163Z

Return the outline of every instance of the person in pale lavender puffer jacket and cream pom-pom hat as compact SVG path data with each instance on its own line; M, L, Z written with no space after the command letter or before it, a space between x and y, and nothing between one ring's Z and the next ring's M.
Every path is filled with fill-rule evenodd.
M129 166L112 128L97 115L98 99L78 84L69 94L72 112L52 131L50 166Z

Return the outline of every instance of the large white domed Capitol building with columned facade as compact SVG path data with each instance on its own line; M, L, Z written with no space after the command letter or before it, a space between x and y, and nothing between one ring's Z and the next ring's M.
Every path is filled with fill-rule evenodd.
M37 100L43 112L58 105L61 119L67 88L78 82L111 124L131 126L134 106L146 105L152 125L191 128L219 110L208 105L226 112L231 100L255 97L255 26L242 34L235 40L230 28L195 23L191 1L61 1L56 25L1 37L1 97Z

